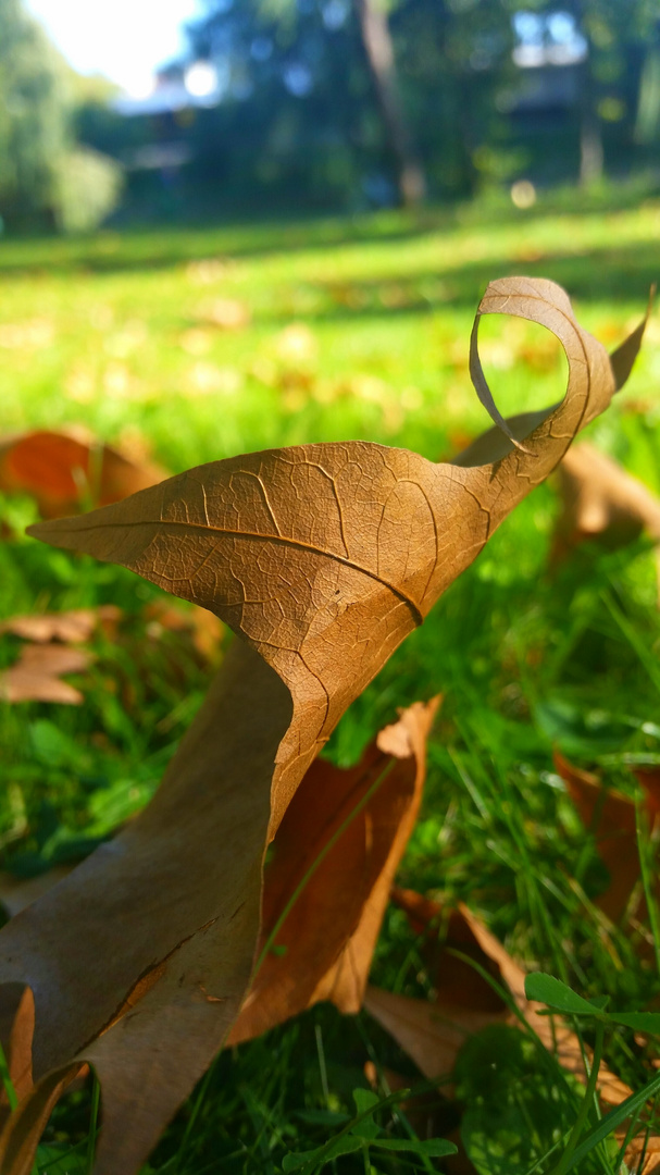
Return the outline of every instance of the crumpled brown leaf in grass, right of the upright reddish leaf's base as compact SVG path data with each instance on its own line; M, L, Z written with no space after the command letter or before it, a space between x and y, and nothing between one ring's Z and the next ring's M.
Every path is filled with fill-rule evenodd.
M413 891L398 889L393 897L409 913L413 926L420 925L430 908L431 921L443 916L439 902L430 902ZM449 915L443 951L435 960L437 976L432 978L437 998L432 1002L372 987L366 991L364 1006L368 1012L386 1028L425 1076L450 1074L466 1038L480 1028L492 1023L520 1025L518 1016L470 964L445 953L450 949L470 956L500 986L506 986L520 1016L545 1048L557 1055L568 1073L586 1083L582 1049L575 1034L561 1016L537 1015L545 1006L527 1000L525 972L464 905ZM586 1052L590 1055L588 1049ZM605 1065L599 1070L598 1089L601 1100L612 1106L618 1106L632 1093Z

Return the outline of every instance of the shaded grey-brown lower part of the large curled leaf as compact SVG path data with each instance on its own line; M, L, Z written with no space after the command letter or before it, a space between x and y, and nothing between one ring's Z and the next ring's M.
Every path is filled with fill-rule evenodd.
M38 1009L36 1086L0 1139L4 1175L29 1170L53 1099L85 1061L102 1082L95 1170L127 1175L220 1049L252 966L290 719L277 674L235 642L149 807L1 932L2 978L25 969Z

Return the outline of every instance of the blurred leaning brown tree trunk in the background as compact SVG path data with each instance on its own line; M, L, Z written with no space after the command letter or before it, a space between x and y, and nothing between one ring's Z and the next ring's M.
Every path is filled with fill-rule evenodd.
M426 180L403 109L388 18L378 0L355 0L355 8L388 146L397 169L400 202L412 207L424 199Z

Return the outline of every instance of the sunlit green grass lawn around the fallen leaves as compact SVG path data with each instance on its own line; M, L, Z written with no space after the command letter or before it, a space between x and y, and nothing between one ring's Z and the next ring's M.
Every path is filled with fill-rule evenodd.
M649 201L610 213L540 207L489 221L386 214L4 242L0 429L83 423L133 451L149 448L171 471L351 437L437 459L487 424L467 375L486 282L511 273L560 281L580 322L613 348L660 273L659 229L660 202ZM213 325L218 300L241 303L249 322ZM484 328L503 411L553 402L565 372L550 336L511 320ZM659 376L654 321L629 388L588 430L654 490ZM585 549L551 571L557 509L548 485L520 506L351 707L329 753L353 761L397 706L444 692L400 882L467 901L528 966L587 998L608 994L619 1010L639 1010L660 995L653 952L639 949L648 928L606 926L594 911L606 878L553 771L552 748L631 794L631 757L660 763L654 559L640 539L622 551ZM14 532L33 515L26 499L4 503ZM147 801L209 666L188 639L154 633L144 606L160 593L121 569L15 537L0 546L0 576L4 616L108 602L127 613L119 640L92 644L83 706L0 709L0 865L26 875L80 859ZM18 647L2 637L0 664ZM395 908L373 980L410 995L432 989L420 944ZM526 1175L530 1155L536 1162L571 1129L580 1095L571 1087L558 1109L548 1090L560 1079L547 1058L501 1033L476 1038L463 1058L464 1127L480 1171ZM585 1036L593 1043L588 1027ZM366 1060L420 1080L366 1014L346 1020L328 1006L221 1054L148 1170L275 1175L289 1150L321 1146L355 1114ZM605 1060L633 1089L652 1073L628 1030L606 1035ZM80 1148L60 1163L45 1152L50 1175L87 1169L89 1107L89 1092L80 1092L53 1115L49 1144ZM396 1107L380 1121L405 1136ZM446 1136L457 1121L456 1107L437 1097L435 1133ZM506 1123L521 1121L532 1149L503 1155ZM614 1171L615 1154L601 1144L578 1169ZM559 1156L537 1169L548 1175ZM371 1173L443 1169L405 1154L375 1152L370 1162ZM364 1169L362 1155L336 1160L338 1175Z

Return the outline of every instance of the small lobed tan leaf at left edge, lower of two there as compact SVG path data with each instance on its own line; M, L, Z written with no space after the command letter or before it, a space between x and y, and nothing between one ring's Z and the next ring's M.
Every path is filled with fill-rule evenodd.
M82 673L94 657L82 649L27 645L15 665L0 673L0 699L5 701L59 701L80 706L80 690L62 682L66 673Z

